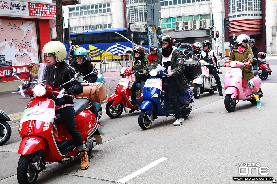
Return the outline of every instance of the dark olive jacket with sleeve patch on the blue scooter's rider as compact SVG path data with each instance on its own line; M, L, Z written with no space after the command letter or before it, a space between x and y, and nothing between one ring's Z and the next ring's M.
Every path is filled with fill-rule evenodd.
M162 52L159 52L157 54L157 58L155 62L162 65ZM186 82L186 78L183 73L185 70L185 66L183 63L182 56L177 49L174 50L172 53L171 62L172 62L171 70L174 73L173 76L178 84L180 91L181 92L186 91L186 89L188 88L188 84Z

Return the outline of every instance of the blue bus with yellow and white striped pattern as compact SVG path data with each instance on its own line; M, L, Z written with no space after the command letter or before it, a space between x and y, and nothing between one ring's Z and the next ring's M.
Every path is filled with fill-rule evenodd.
M72 40L71 47L84 47L89 52L89 59L92 61L100 60L100 55L103 56L103 54L105 56L113 55L114 59L119 59L119 55L130 54L132 51L131 33L127 32L127 28L71 33L70 37ZM139 33L134 32L133 37L134 45L139 45ZM141 33L141 41L144 49L149 52L147 32ZM69 45L65 44L65 47L69 51Z

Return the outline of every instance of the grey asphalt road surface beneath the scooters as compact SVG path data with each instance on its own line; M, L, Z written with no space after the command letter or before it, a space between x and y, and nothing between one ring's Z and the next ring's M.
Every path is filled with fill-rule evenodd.
M124 181L129 184L271 183L232 180L236 176L277 178L277 100L273 90L277 88L277 62L269 58L267 62L272 75L262 81L261 109L249 101L239 101L235 112L228 113L224 96L220 97L218 92L204 93L194 100L193 110L184 125L174 127L175 118L158 117L146 131L137 124L138 112L123 112L117 119L109 118L104 112L100 119L105 133L103 145L93 149L89 156L90 167L81 170L79 160L62 165L52 163L39 174L37 183L115 183L138 170L139 175L131 175ZM223 83L226 68L222 70ZM4 108L1 110L7 114L23 111L29 101L23 97L11 98L10 93L1 93L0 105ZM102 107L104 109L105 104ZM11 124L15 127L12 136L0 147L0 183L17 183L20 157L17 152L21 141L18 124ZM155 165L153 162L159 159L160 163ZM239 175L235 165L240 163L267 166L269 174Z

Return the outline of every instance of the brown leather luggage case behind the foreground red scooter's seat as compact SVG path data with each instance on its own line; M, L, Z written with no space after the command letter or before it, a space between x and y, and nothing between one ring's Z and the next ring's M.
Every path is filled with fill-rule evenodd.
M101 104L106 98L106 86L105 83L81 83L83 86L83 93L75 95L76 98L86 97L89 102L96 102Z

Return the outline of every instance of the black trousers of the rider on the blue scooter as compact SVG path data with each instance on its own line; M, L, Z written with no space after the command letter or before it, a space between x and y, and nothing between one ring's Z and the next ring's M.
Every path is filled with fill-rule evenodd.
M175 118L183 118L181 114L180 104L177 100L177 94L180 92L178 84L173 76L166 77L163 80L163 83L168 84L167 97L169 98L170 103L173 106Z

